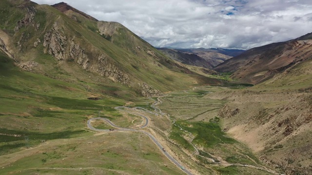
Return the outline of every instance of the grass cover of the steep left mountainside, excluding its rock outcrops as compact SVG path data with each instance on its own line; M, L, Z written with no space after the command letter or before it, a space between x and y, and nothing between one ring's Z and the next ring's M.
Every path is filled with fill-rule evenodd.
M5 2L5 0L3 0L2 3L9 4ZM75 21L59 12L57 9L47 5L36 5L37 13L35 21L36 23L40 23L37 32L34 31L34 27L28 26L22 27L18 33L14 34L14 25L12 24L16 24L18 20L23 18L26 10L25 8L18 8L12 5L6 5L4 7L3 11L5 13L10 12L15 15L12 16L12 18L10 16L7 20L10 22L10 25L8 22L3 21L5 24L1 26L1 28L11 34L14 43L20 40L20 36L23 33L24 35L29 34L28 39L23 39L21 41L22 47L20 51L16 53L16 57L23 61L34 60L39 62L40 69L35 69L36 72L42 74L49 72L49 76L60 77L70 81L75 81L76 78L88 79L91 74L88 72L88 76L83 75L87 72L78 69L78 65L75 62L56 61L51 55L42 53L44 34L52 27L55 21L57 21L59 27L62 28L67 36L67 47L69 47L70 39L75 37L75 43L79 44L85 50L84 52L92 59L91 63L93 64L97 64L97 58L100 53L106 53L112 58L110 60L111 63L130 76L130 90L135 93L139 93L139 84L142 82L146 82L161 91L172 91L196 85L220 83L218 80L197 73L184 73L183 69L176 67L175 62L172 62L169 58L158 53L155 48L138 38L126 28L121 28L119 31L120 35L114 36L113 44L98 34L96 21L79 17L79 15L77 15L78 21ZM5 13L1 13L1 15L5 16ZM33 48L33 43L37 38L41 40L41 43L37 48ZM136 50L137 45L141 46L144 51ZM147 49L155 52L157 58L149 55L146 52ZM15 48L15 50L18 50L18 48ZM160 60L157 60L158 58ZM162 66L159 67L157 64ZM91 76L91 79L92 78L93 76ZM95 79L91 81L98 82L98 80ZM107 84L111 84L111 82L108 81ZM118 85L114 86L118 87Z

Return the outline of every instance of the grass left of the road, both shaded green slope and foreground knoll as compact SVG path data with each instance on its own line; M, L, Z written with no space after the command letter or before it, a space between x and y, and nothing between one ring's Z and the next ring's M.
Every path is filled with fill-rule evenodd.
M6 134L0 135L0 159L5 159L0 161L4 167L0 174L180 173L145 135L93 136L82 130L86 120L97 117L98 111L101 117L105 115L118 123L122 115L113 107L124 105L125 100L104 95L100 96L102 100L86 100L94 93L76 84L20 70L1 52L0 79L0 133ZM137 105L146 104L132 100ZM79 172L79 168L85 169ZM157 171L151 171L155 168Z

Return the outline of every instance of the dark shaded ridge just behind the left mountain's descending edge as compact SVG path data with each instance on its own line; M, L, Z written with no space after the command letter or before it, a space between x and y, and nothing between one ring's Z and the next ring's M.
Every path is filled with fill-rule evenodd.
M169 58L183 64L213 69L212 64L194 53L182 53L179 51L175 51L174 49L167 48L158 48L158 50L167 55Z

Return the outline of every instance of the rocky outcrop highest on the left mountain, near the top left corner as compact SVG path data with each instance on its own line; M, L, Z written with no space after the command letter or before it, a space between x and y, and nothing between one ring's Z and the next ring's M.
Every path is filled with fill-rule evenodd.
M23 19L19 20L17 25L14 27L14 32L18 32L20 28L24 26L35 26L34 18L36 16L37 10L35 7L28 7L26 15ZM40 24L36 26L36 29L39 29Z

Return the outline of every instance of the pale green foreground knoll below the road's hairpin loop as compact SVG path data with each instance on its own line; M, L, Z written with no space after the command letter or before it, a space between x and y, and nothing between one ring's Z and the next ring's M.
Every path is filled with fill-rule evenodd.
M118 144L117 144L118 143ZM104 135L49 140L36 149L0 156L0 174L150 174L181 172L144 134ZM31 160L31 162L29 162Z

